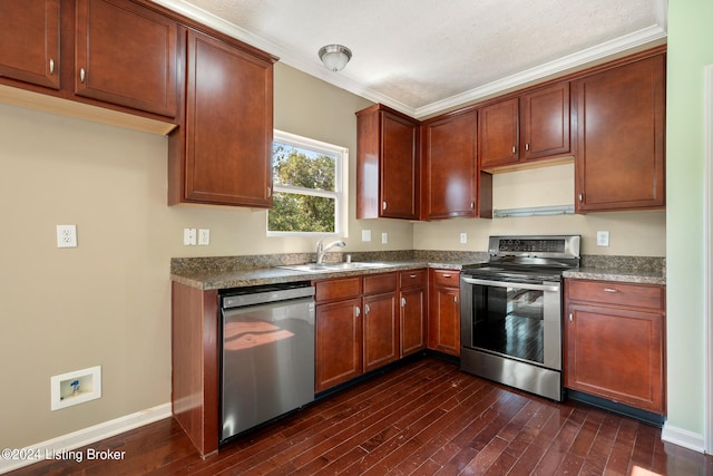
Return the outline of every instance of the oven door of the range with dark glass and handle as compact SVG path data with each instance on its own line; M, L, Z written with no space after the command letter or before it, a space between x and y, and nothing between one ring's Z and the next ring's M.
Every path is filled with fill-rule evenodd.
M561 285L463 275L461 344L561 370Z

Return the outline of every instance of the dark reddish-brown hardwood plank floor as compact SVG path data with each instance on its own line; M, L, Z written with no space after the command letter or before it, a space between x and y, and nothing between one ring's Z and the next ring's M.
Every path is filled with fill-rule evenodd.
M713 457L658 428L556 404L424 358L238 437L201 459L165 419L78 449L119 460L46 460L11 475L713 475Z

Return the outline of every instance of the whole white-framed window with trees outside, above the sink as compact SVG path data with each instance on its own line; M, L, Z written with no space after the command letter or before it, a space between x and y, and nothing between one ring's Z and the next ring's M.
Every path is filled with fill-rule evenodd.
M275 130L267 235L345 236L348 163L344 147Z

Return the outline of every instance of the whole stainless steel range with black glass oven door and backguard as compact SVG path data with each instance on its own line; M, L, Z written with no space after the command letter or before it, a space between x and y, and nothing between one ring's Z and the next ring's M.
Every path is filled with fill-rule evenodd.
M461 370L563 399L561 274L579 266L579 243L490 236L488 263L461 271Z

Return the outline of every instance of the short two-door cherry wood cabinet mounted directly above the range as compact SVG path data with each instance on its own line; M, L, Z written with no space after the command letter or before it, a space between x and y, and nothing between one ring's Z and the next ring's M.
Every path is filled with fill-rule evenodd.
M479 109L480 168L496 169L570 154L569 82Z

